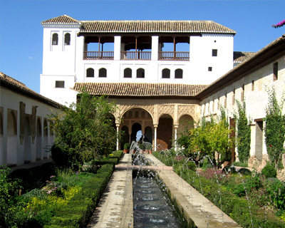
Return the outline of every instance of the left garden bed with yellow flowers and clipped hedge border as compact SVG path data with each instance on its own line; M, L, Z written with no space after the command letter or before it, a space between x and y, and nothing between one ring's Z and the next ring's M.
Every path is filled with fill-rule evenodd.
M98 160L95 173L57 169L50 163L9 175L0 167L1 226L86 227L122 155L118 151Z

